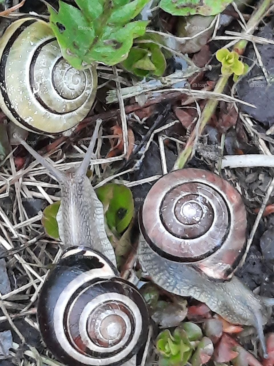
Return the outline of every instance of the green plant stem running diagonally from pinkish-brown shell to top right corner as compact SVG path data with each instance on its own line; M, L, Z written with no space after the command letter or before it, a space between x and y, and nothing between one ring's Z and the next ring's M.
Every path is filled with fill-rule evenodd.
M252 14L251 18L247 22L247 31L245 33L253 34L255 31L255 27L259 24L259 22L262 20L263 15L267 11L267 9L270 7L273 0L263 0L261 4L259 5L258 9ZM246 40L240 40L238 41L234 47L233 51L237 52L239 55L243 55L248 41ZM214 92L215 93L222 93L224 91L225 86L227 85L228 79L230 75L221 75L218 79ZM199 129L198 134L199 136L202 134L203 129L205 128L206 124L212 117L213 113L216 111L216 107L218 105L219 101L217 99L210 99L205 107L203 108L203 111L201 113L201 119L199 121ZM176 160L176 163L174 165L174 170L176 169L182 169L184 165L186 164L187 160L192 154L193 150L193 143L196 137L196 129L191 132L190 137L186 143L186 146L184 147L184 150L179 154L178 159Z

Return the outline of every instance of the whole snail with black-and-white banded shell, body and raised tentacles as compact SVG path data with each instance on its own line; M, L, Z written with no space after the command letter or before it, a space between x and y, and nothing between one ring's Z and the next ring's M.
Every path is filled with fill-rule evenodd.
M39 295L39 328L46 346L66 365L143 365L146 303L132 283L118 277L103 205L86 176L101 122L96 121L80 167L66 174L14 134L61 187L57 223L64 254Z

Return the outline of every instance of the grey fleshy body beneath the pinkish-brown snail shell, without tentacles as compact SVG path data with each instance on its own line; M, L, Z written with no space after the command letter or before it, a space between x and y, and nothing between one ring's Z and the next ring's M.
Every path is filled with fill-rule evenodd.
M138 246L140 264L149 273L152 281L168 292L180 296L191 296L205 303L217 314L232 324L260 327L266 324L263 298L255 296L241 281L210 279L191 264L172 262L160 257L145 242Z

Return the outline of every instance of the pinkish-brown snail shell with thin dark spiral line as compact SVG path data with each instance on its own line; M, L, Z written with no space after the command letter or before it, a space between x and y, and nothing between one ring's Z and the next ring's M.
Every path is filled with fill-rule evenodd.
M161 257L191 263L216 279L231 276L244 254L241 196L205 170L181 169L160 178L145 198L139 222L145 241Z

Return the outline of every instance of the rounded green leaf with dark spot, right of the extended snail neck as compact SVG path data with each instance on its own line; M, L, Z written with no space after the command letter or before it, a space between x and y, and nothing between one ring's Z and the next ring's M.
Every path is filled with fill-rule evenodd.
M131 190L122 184L108 183L96 189L106 207L106 221L114 234L122 234L133 217L134 204Z

